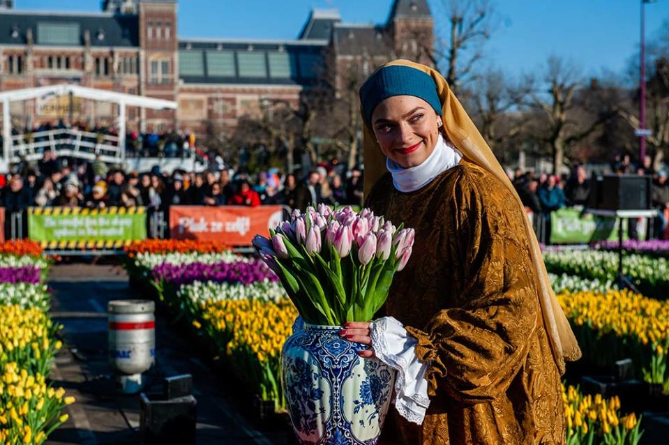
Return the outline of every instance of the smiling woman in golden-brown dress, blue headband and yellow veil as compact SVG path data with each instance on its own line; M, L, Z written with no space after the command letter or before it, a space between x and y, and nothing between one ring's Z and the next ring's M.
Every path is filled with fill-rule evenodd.
M435 70L397 60L361 91L366 206L415 229L382 314L349 323L398 370L383 444L563 444L580 349L523 205Z

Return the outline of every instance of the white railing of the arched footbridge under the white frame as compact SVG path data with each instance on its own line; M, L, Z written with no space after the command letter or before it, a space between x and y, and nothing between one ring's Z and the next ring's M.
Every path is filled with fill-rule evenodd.
M9 161L17 163L21 158L38 160L43 158L45 150L52 150L59 156L89 160L100 155L105 163L123 163L124 160L124 150L119 146L118 136L61 128L29 135L13 135Z

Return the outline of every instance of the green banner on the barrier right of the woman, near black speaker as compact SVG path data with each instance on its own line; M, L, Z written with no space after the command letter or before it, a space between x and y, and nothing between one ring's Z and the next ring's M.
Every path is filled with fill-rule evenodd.
M550 213L550 242L554 244L590 243L617 240L616 218L582 213L580 209L564 207ZM623 239L627 239L627 225L623 225Z

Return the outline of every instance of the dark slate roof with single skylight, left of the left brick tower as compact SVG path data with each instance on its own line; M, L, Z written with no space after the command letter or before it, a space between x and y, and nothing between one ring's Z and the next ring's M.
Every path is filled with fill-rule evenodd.
M137 15L0 10L0 45L26 45L28 29L35 45L82 46L86 31L93 47L140 45Z

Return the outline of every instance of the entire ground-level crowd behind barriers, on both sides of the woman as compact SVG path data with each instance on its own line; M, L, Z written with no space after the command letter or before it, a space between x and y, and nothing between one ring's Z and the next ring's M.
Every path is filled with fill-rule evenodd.
M656 171L651 161L647 157L636 167L629 156L624 156L611 165L611 171L653 177L652 205L658 217L647 236L669 239L668 172ZM566 206L587 207L591 188L588 176L583 165L574 167L568 176L509 171L523 204L545 225L545 241L550 239L551 212ZM363 170L347 170L331 160L306 174L283 174L276 168L254 175L230 169L202 173L176 169L167 174L158 167L149 172L123 172L110 169L99 158L93 162L58 158L47 150L38 162L24 162L16 165L12 174L0 176L0 196L6 212L24 211L29 206L146 206L149 211L167 211L173 205L286 205L293 209L303 209L313 202L361 205ZM636 239L635 220L629 221L628 230Z

